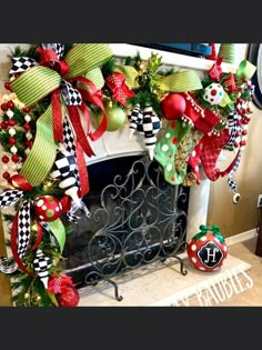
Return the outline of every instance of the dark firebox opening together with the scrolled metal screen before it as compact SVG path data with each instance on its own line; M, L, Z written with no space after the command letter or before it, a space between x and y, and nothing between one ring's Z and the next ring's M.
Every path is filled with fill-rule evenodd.
M105 280L185 250L189 188L169 184L148 156L114 158L89 166L90 218L80 219L67 238L64 268L78 288Z

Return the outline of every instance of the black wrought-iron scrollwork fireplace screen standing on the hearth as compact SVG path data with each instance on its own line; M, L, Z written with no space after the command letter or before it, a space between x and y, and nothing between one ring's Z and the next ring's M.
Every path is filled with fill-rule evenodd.
M102 189L100 203L89 207L88 262L68 272L82 271L84 284L109 281L117 300L122 297L111 278L128 270L172 257L187 274L178 257L185 248L187 213L180 203L187 200L181 186L164 181L159 163L148 157L135 160L127 176L117 174Z

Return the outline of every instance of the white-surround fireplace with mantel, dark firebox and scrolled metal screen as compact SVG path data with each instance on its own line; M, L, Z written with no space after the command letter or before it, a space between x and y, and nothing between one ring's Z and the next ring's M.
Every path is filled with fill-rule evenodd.
M111 47L120 61L137 50L129 44ZM147 59L152 50L139 51ZM158 53L164 64L173 64L175 53ZM192 69L188 62L183 57L179 66ZM201 76L212 62L199 62ZM105 132L92 148L95 157L87 159L90 192L83 198L91 217L81 218L68 236L67 272L79 288L110 282L119 301L114 277L129 270L172 257L187 274L181 256L187 241L206 222L210 181L202 169L199 186L169 186L161 167L149 159L142 136L130 139L128 121L121 130Z

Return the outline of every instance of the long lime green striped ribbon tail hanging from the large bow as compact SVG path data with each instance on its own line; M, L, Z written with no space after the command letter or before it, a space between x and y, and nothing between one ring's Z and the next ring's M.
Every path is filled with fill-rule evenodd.
M50 172L56 159L56 143L53 142L52 108L51 104L37 121L37 133L33 147L20 170L20 174L33 187L40 184Z

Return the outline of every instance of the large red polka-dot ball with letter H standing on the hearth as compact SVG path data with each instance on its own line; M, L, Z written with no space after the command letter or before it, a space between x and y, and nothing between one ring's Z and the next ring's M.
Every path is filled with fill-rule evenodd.
M228 257L228 249L221 233L202 231L196 233L187 247L191 264L201 271L215 271Z

